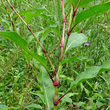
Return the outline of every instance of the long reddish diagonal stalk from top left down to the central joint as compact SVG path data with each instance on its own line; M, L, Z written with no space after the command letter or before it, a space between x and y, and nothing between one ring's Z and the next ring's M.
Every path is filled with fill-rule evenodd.
M45 56L47 57L52 69L53 69L53 72L54 74L56 73L56 70L45 50L45 48L43 47L43 45L40 43L40 41L38 40L38 38L35 36L35 34L33 33L32 29L28 26L28 24L23 20L23 18L17 13L17 11L14 9L14 7L11 5L11 3L9 2L9 0L7 0L8 4L10 5L10 8L15 12L15 14L21 19L21 21L27 26L28 30L31 32L31 34L34 36L35 40L37 41L37 43L40 45L40 47L42 48L42 51L44 52Z

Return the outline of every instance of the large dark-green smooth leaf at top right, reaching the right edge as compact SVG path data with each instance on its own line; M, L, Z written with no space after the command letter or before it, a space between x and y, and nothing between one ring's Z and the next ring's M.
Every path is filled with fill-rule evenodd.
M93 6L85 11L82 11L81 13L76 15L74 25L77 25L81 21L86 20L87 18L89 18L91 16L94 16L94 15L97 16L100 13L104 13L105 11L107 11L109 9L110 9L110 2L105 3L105 4L99 4L99 5Z

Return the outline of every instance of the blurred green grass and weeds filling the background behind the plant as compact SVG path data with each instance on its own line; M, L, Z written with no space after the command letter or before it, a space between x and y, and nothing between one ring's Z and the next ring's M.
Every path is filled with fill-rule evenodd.
M56 70L59 67L60 40L63 30L62 4L60 0L10 0L13 7L25 19L37 38L45 47L48 56ZM67 22L65 33L68 32L71 0L64 0ZM109 2L109 0L92 0L87 5L79 7L78 13L92 6ZM34 53L45 57L41 47L11 10L7 1L4 1L9 14L0 1L0 32L16 32L28 43L28 48ZM10 17L9 17L10 15ZM110 10L95 14L79 23L72 33L83 33L87 36L86 43L71 48L66 52L62 71L60 73L59 96L62 96L78 74L92 66L101 66L104 61L110 60ZM65 39L67 35L65 34ZM71 39L72 40L72 39ZM80 41L79 41L80 42ZM31 60L30 60L31 59ZM46 64L52 74L48 61ZM110 69L110 63L107 63ZM95 67L94 67L95 68ZM94 69L93 68L93 69ZM97 70L97 68L96 68ZM0 34L0 110L48 110L44 91L49 81L41 78L41 64L27 56L25 51L16 43L1 37ZM95 69L94 69L95 71ZM92 72L92 69L91 69ZM90 72L90 74L91 74ZM43 87L45 85L45 87ZM54 88L52 88L54 90ZM47 91L47 94L50 93ZM75 86L60 101L59 110L109 110L110 109L110 71L101 71L95 78L86 80Z

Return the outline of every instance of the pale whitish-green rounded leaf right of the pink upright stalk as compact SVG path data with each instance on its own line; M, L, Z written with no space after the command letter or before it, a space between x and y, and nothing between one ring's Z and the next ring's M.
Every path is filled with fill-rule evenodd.
M66 51L73 47L81 46L84 42L87 42L88 38L82 33L72 33L69 37Z

